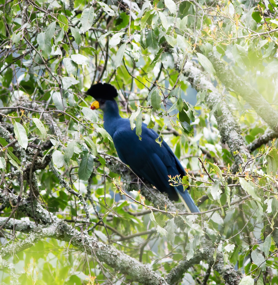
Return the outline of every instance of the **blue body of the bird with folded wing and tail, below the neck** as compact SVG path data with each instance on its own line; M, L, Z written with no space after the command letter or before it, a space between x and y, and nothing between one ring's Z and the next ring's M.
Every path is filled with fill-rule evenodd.
M142 124L142 139L139 140L135 129L131 130L128 119L122 119L120 127L113 134L113 142L119 158L141 178L146 179L159 191L166 192L171 200L177 201L179 195L183 198L191 212L199 212L193 199L183 186L169 185L168 175L185 175L181 163L171 148L162 142L161 146L155 141L158 134Z

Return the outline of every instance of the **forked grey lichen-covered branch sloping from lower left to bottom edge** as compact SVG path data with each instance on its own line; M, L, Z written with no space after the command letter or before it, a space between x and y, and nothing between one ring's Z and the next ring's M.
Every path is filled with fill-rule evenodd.
M5 218L0 218L0 226L5 223ZM56 238L62 241L70 242L72 245L86 251L90 255L96 255L99 261L105 262L111 266L115 271L120 271L122 274L127 274L135 282L140 282L146 285L167 285L167 282L148 266L140 263L136 259L118 251L110 245L105 245L96 241L87 233L80 233L76 229L62 222L56 220L55 223L47 226L36 226L31 221L21 221L10 219L4 226L6 229L14 229L18 231L27 232L29 235L26 239L18 241L16 244L5 245L1 248L1 256L7 258L12 253L22 251L31 247L34 242L44 239L46 237Z

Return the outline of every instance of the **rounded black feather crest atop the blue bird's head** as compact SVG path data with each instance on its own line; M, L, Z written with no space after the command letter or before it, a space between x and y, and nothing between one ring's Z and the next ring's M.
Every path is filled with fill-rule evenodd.
M95 99L113 100L117 97L117 89L108 83L93 84L88 90L87 95Z

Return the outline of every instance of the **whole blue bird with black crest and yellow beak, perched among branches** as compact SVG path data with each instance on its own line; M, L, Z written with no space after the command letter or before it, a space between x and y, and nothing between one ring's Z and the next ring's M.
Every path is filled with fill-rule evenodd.
M171 186L171 177L185 176L185 170L168 144L163 140L156 142L159 135L153 129L142 123L141 139L136 135L136 128L130 127L128 118L119 114L118 104L115 101L118 93L114 86L108 83L92 84L87 95L95 101L91 109L103 111L103 127L113 139L118 157L127 164L141 179L155 186L160 192L166 192L170 200L185 202L185 207L191 213L200 212L183 185Z

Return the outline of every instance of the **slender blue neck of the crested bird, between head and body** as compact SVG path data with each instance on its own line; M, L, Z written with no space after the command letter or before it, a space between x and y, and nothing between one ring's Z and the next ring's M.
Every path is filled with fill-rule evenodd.
M121 119L121 116L119 114L117 102L115 100L107 101L105 109L103 110L103 126L111 137L113 137L117 127L119 126L119 119Z

